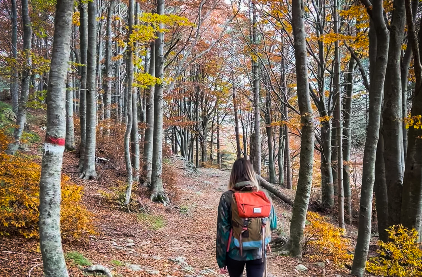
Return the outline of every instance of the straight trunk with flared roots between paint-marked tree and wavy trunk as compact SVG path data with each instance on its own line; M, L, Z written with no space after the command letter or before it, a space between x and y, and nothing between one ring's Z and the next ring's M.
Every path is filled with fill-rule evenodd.
M87 139L84 155L84 169L80 178L95 179L95 139L97 118L97 87L95 85L95 68L97 54L97 5L88 2L88 51L87 51Z

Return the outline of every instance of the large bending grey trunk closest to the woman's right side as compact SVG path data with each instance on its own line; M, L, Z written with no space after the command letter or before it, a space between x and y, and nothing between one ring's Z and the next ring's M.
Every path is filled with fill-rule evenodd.
M295 41L296 76L298 86L298 104L300 110L300 167L295 204L293 205L290 224L290 239L288 252L294 257L302 255L302 237L308 211L309 196L312 186L312 171L314 167L314 124L312 123L312 106L308 86L308 61L306 52L306 33L303 22L303 0L292 2L292 27Z

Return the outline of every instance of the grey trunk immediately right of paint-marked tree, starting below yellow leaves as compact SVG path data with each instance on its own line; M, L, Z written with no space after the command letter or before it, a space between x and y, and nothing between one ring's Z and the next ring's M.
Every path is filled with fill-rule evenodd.
M65 149L73 151L75 146L75 126L73 125L73 78L68 74L66 86L66 143Z

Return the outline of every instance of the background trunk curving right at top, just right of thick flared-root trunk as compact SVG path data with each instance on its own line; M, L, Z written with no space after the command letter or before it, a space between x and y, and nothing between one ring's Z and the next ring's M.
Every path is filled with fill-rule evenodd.
M104 87L104 119L111 118L111 85L112 85L112 77L113 71L111 69L111 47L112 47L112 33L111 33L111 20L114 13L114 9L116 8L116 0L111 0L108 5L108 12L107 12L107 22L106 22L106 86ZM116 68L116 71L118 69ZM119 81L119 80L116 80ZM117 91L115 92L117 94ZM110 124L109 122L106 125L106 136L110 136Z

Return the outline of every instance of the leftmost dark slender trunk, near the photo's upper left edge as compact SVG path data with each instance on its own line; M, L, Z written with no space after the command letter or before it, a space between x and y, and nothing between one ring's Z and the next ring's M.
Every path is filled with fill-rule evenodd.
M12 53L16 60L18 57L18 11L16 8L16 0L12 2ZM17 113L19 110L19 87L18 87L18 72L15 67L12 67L12 77L10 82L10 94L12 97L12 110Z

